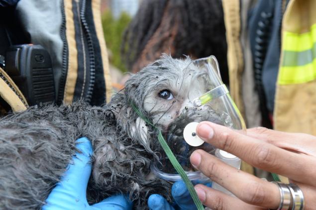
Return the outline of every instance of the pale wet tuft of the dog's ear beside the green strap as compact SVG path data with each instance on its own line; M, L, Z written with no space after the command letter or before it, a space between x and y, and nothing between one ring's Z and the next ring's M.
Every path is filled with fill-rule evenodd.
M148 134L148 127L146 122L137 117L134 123L132 123L129 127L130 137L135 141L138 141L141 145L145 147L147 150L150 149L150 142L149 142L149 134Z

